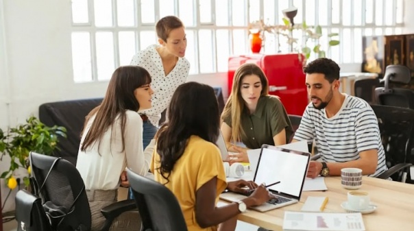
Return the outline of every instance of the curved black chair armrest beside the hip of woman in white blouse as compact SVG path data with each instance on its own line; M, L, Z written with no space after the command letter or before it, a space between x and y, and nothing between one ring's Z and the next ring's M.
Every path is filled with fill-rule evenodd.
M115 202L114 204L103 207L101 212L103 217L106 218L106 221L101 228L101 231L108 231L110 226L112 226L112 221L121 215L121 213L133 210L138 210L134 199L125 199L121 202ZM137 216L139 215L137 214Z

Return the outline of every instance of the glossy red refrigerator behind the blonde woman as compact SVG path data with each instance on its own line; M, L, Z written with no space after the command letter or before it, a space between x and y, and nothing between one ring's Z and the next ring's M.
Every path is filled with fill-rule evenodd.
M269 80L269 94L280 97L288 114L302 116L308 105L302 61L303 56L297 53L230 57L228 61L228 93L230 95L232 91L236 69L244 63L255 63L265 72Z

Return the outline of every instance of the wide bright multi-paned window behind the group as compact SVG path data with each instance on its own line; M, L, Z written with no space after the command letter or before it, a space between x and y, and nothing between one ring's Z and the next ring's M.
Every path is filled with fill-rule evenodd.
M117 66L157 42L156 21L171 14L186 26L190 73L226 72L229 56L251 53L249 22L281 24L282 10L292 5L296 24L339 33L337 47L322 41L339 63L362 62L361 36L402 32L403 0L72 0L73 80L109 80ZM263 53L289 51L283 36L265 37Z

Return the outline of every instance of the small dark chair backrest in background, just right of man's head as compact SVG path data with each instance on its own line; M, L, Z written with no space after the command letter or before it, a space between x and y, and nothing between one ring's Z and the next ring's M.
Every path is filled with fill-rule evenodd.
M359 79L354 82L354 94L369 104L376 104L375 89L380 86L378 78Z

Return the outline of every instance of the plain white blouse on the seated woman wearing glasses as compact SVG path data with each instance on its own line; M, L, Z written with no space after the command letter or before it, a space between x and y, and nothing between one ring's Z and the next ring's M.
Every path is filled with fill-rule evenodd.
M121 151L121 120L119 117L114 122L113 130L109 127L101 141L95 142L86 151L79 149L76 168L84 180L86 190L118 189L119 178L125 167L129 167L139 175L145 175L148 172L152 155L151 153L144 154L143 151L143 120L137 112L132 110L127 110L125 113L124 151ZM89 119L82 135L81 145L94 120L95 116Z

